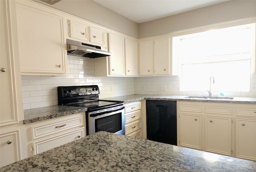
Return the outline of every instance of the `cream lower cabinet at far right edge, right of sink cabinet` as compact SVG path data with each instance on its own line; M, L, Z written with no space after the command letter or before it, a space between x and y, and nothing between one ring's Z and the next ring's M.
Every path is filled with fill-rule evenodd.
M256 106L236 107L236 157L256 160Z

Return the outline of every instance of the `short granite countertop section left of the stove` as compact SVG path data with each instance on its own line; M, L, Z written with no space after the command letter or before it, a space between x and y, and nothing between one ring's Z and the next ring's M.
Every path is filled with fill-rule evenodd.
M36 121L43 121L55 117L61 117L78 112L87 111L87 108L74 107L74 106L47 106L43 108L34 108L24 110L23 124L33 123Z

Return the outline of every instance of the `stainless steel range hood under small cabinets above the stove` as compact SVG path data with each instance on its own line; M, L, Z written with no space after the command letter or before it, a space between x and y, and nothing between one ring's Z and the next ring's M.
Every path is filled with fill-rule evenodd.
M100 47L79 41L67 39L67 50L68 55L80 56L80 57L106 57L110 56L111 53L107 52L106 47Z

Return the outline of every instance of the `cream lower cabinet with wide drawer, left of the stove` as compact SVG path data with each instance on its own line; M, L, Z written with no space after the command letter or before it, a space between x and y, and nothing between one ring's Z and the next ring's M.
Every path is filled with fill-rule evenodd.
M32 156L84 137L85 113L38 121L25 127L28 156Z

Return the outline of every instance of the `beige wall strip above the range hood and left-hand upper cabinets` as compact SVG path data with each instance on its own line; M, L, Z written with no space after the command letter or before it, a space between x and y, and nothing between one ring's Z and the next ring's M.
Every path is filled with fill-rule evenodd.
M138 24L91 0L61 0L47 6L138 38Z

